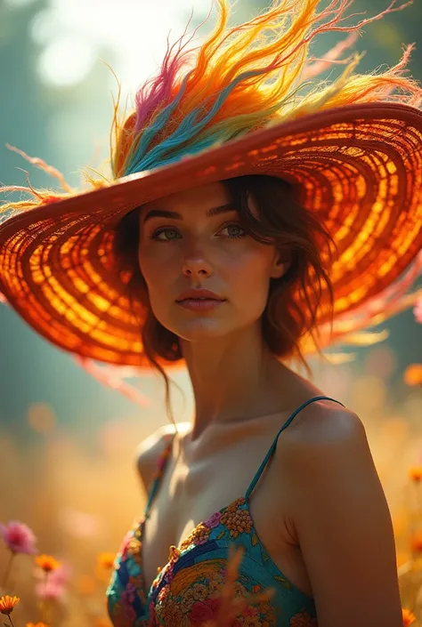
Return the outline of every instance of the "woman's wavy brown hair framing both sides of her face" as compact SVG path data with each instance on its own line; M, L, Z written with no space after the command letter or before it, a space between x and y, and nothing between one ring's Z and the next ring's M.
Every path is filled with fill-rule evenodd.
M304 209L297 201L298 189L295 185L263 174L239 176L221 182L229 191L238 209L240 224L248 235L263 244L275 244L288 254L290 265L287 272L283 277L270 279L268 301L262 316L263 338L278 358L296 359L307 374L312 374L299 342L305 334L311 334L321 354L315 326L322 307L327 308L332 322L334 298L329 266L336 244L321 218ZM256 200L257 218L249 209L249 195ZM145 318L140 322L143 350L150 365L164 378L166 411L174 422L170 406L170 380L159 361L176 362L183 355L177 335L162 326L150 309L148 289L138 261L140 208L127 213L119 222L113 252L118 269L132 272L126 285L126 296L132 303L138 301L145 310ZM323 292L328 295L324 302Z

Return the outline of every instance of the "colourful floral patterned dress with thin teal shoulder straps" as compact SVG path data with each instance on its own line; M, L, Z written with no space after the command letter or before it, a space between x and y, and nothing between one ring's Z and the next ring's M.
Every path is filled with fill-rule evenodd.
M248 502L281 431L304 406L322 398L339 403L334 398L320 396L298 407L281 427L245 496L200 522L179 548L171 546L166 566L158 569L150 590L146 590L142 575L142 534L171 453L174 436L169 436L144 516L127 533L115 561L107 591L110 618L115 627L199 627L215 618L232 545L241 545L243 550L236 596L269 588L274 591L270 600L256 601L243 610L233 622L234 627L318 627L312 597L296 588L272 561L256 535Z

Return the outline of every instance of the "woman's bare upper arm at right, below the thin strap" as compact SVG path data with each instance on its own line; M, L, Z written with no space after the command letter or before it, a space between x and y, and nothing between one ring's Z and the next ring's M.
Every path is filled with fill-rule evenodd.
M401 627L393 525L364 427L343 408L309 417L319 436L296 430L277 463L319 627Z

